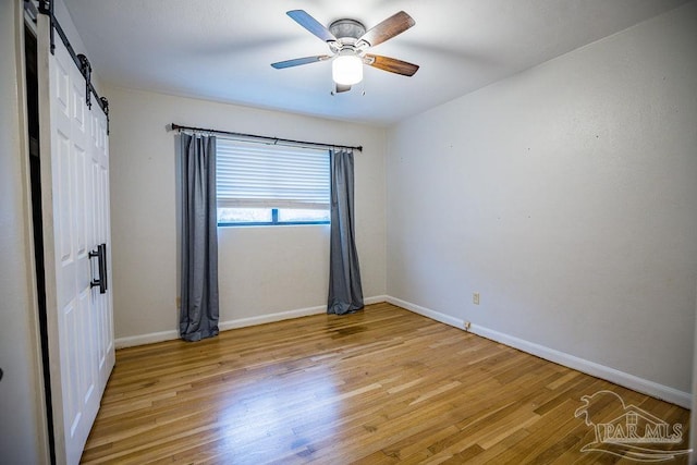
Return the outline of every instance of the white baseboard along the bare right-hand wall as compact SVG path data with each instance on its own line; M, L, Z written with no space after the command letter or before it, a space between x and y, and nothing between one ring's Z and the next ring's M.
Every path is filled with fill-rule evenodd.
M431 310L429 308L425 308L419 305L412 304L409 302L405 302L391 296L387 297L387 302L405 308L409 311L414 311L415 314L423 315L436 321L440 321L458 329L464 329L465 321L458 318L451 317L450 315L441 314L439 311ZM629 375L624 371L597 364L595 362L586 360L584 358L579 358L574 355L557 351L554 348L546 347L534 342L525 341L523 339L515 338L513 335L509 335L499 331L493 331L478 325L472 325L469 328L469 332L508 345L510 347L517 348L537 357L545 358L546 360L573 368L596 378L601 378L615 384L632 389L634 391L641 392L644 394L651 395L667 402L671 402L673 404L680 405L681 407L692 408L693 397L688 392L678 391L668 386L659 384L657 382L649 381L647 379L639 378L637 376Z

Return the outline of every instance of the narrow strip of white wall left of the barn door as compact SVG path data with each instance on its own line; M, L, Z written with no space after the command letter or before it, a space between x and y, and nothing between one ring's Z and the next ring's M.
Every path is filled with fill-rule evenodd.
M21 2L0 2L0 462L46 463L24 144Z

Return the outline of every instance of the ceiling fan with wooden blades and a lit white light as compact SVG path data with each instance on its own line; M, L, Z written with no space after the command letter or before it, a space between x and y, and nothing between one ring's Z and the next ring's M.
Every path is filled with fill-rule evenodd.
M363 65L403 76L413 76L418 65L395 58L367 53L368 49L398 36L414 26L416 22L403 11L393 14L377 26L367 30L356 20L338 20L325 27L304 10L292 10L286 13L297 24L329 45L331 54L296 58L271 63L277 70L332 60L332 78L335 91L351 90L351 86L363 79Z

